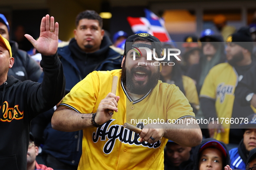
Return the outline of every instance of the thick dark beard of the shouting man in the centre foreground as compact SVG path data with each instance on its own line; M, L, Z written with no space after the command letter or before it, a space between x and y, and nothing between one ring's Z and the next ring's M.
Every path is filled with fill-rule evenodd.
M135 72L145 72L146 75L148 76L148 82L146 82L145 85L143 85L144 81L135 81L133 80L133 76ZM127 70L126 72L126 66L125 66L125 61L123 63L123 68L122 68L122 81L123 85L126 88L127 91L133 94L146 94L147 92L150 91L150 89L153 89L156 87L158 80L160 76L160 71L158 69L157 72L152 73L148 69L144 67L136 67L132 68L130 71Z

